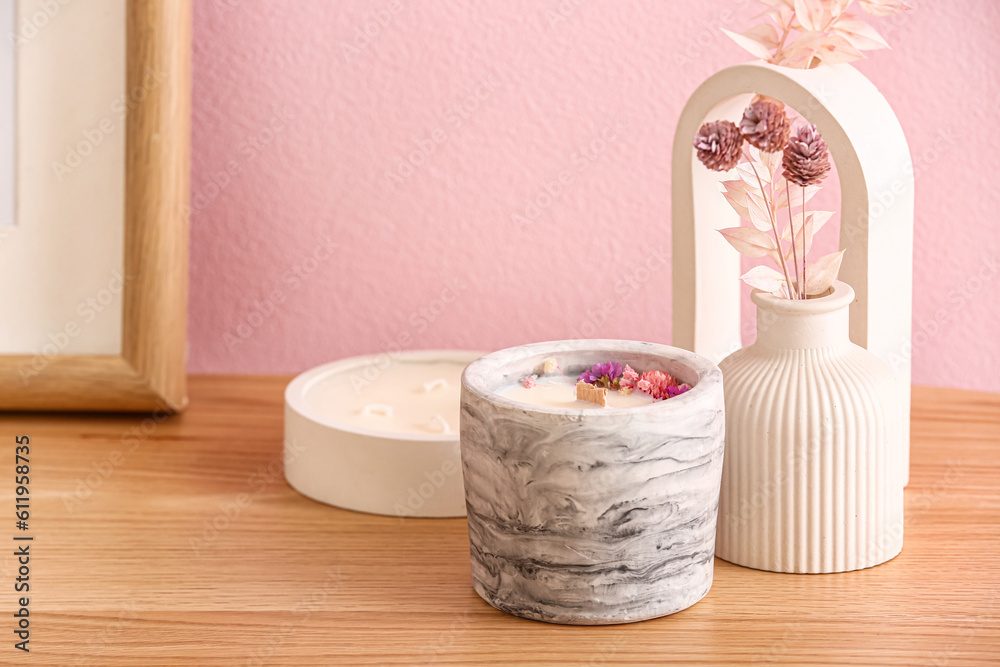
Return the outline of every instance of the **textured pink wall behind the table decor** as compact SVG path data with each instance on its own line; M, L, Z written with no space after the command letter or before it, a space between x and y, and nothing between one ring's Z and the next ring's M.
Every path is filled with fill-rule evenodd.
M757 3L194 4L192 372L670 341L674 126ZM859 64L918 170L914 382L1000 391L1000 3L917 4Z

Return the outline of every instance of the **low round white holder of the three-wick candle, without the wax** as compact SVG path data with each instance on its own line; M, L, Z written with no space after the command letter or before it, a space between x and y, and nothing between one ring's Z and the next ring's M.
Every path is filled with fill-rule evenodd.
M314 500L359 512L400 517L465 516L458 424L442 427L445 432L441 433L362 428L323 414L315 400L310 400L315 398L310 392L339 375L377 380L387 364L467 364L480 355L454 350L369 355L325 364L299 375L285 390L288 483ZM457 386L458 378L453 381ZM368 407L372 411L383 409Z

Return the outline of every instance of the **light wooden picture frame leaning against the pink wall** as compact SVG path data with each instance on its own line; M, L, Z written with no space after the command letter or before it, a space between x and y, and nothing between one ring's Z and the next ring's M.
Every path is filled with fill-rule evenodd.
M125 120L121 353L0 355L0 409L175 412L187 405L190 0L126 1L126 90L163 81Z

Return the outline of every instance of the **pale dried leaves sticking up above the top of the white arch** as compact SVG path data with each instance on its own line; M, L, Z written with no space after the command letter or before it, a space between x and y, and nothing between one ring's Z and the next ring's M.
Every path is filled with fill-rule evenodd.
M758 0L763 19L743 33L723 30L741 47L769 63L810 69L864 58L862 51L889 48L885 39L849 9L854 0ZM871 16L911 9L908 0L858 0Z

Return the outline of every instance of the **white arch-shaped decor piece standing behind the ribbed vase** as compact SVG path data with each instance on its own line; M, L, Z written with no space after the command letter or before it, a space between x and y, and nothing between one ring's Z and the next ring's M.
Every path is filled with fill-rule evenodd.
M889 103L850 65L744 63L712 75L688 100L673 149L673 344L716 362L742 347L739 255L715 232L738 225L738 216L720 194L727 175L704 168L692 141L708 120L738 121L755 94L794 108L830 147L847 249L840 279L857 294L851 340L889 364L909 414L913 166ZM909 420L905 428L908 471Z

